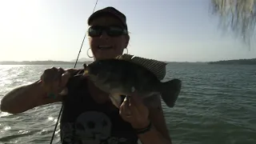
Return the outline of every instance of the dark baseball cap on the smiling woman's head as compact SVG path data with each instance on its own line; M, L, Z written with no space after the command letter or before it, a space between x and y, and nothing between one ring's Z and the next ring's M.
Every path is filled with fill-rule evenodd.
M114 7L106 7L102 10L95 11L94 14L91 14L90 17L88 18L88 25L90 25L90 22L102 14L110 14L114 16L115 18L118 18L120 22L122 22L122 25L125 26L126 30L128 30L127 24L126 24L126 15L122 14L119 10L116 10Z

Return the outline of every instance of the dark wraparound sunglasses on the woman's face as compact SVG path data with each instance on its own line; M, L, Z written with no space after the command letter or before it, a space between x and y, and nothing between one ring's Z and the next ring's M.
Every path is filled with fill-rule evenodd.
M88 34L90 37L99 37L102 35L102 31L105 31L110 37L118 37L121 35L127 35L128 31L120 26L90 26Z

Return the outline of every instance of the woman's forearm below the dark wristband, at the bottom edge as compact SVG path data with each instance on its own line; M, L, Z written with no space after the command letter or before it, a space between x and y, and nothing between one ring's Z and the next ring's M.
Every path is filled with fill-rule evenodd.
M171 142L164 138L154 126L152 126L151 130L145 134L138 134L138 138L143 144L171 144Z

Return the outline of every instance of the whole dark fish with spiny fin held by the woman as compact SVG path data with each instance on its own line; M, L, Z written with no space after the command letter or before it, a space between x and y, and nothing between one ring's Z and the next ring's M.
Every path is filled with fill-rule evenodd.
M182 89L178 78L161 82L166 76L166 62L134 57L130 54L116 58L95 60L84 68L84 76L100 90L110 95L114 106L122 104L121 95L137 95L146 106L158 106L162 98L168 107L174 107Z

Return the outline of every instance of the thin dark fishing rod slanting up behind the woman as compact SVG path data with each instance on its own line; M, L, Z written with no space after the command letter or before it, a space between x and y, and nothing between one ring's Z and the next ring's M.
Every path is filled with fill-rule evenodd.
M95 2L94 10L95 10L95 8L96 8L96 6L97 6L97 3L98 3L98 0L96 0L96 2ZM93 14L94 14L94 10L93 10ZM88 28L87 28L87 29L88 29ZM79 58L79 55L80 55L80 53L81 53L82 46L83 46L83 42L85 41L85 39L86 39L86 34L84 35L84 37L83 37L83 39L82 39L82 44L81 44L81 47L80 47L79 52L78 52L78 58ZM77 60L76 60L75 63L74 63L74 68L75 68L75 66L77 66L78 58L77 58ZM60 118L61 115L62 115L62 110L63 110L63 104L62 104L61 110L59 111L59 114L58 114L58 119L57 119L57 122L56 122L55 127L54 127L54 133L53 133L53 135L52 135L52 137L51 137L50 144L52 144L53 141L54 141L55 131L56 131L57 126L58 126L59 118Z

